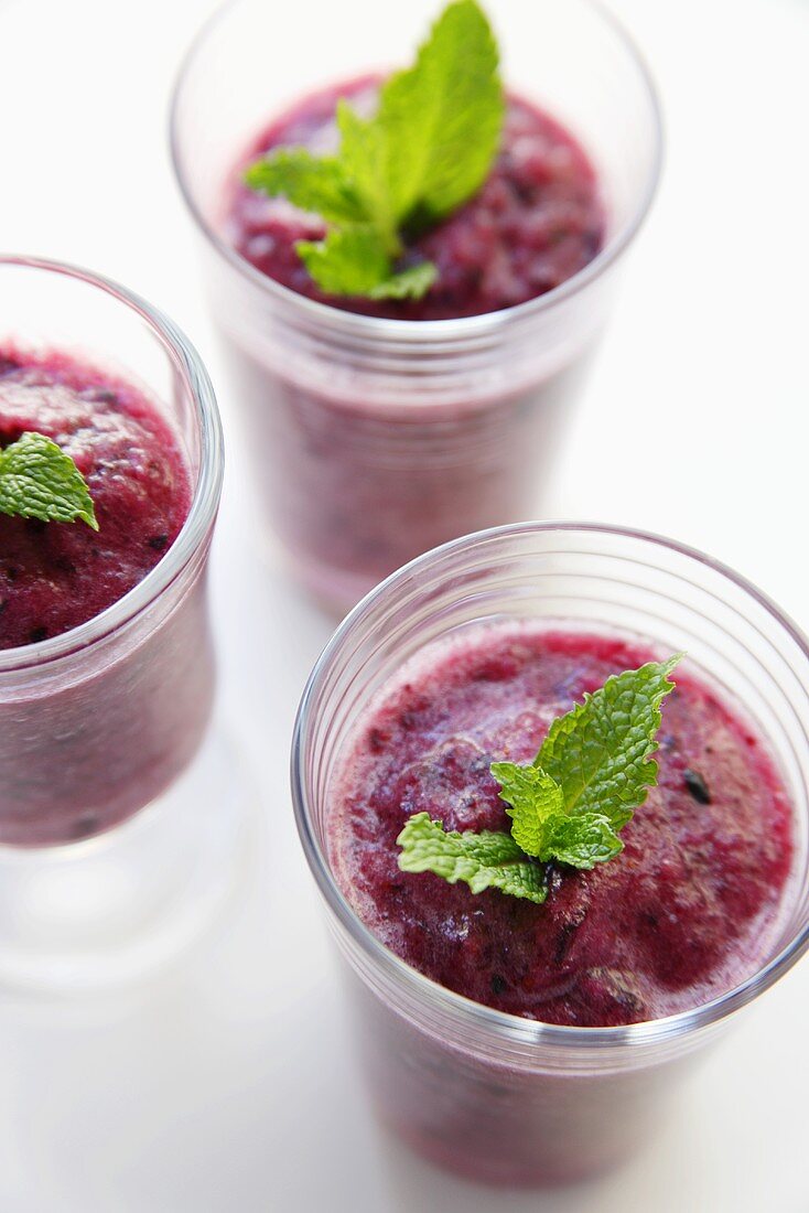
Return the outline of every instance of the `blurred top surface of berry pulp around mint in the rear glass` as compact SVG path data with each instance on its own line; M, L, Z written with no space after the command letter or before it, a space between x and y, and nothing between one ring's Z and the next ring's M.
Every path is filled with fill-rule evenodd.
M377 89L378 79L366 78L308 97L262 133L245 163L278 147L335 152L337 99L368 114ZM579 143L542 110L511 97L501 150L482 189L410 243L405 263L433 261L439 273L421 300L372 303L323 295L295 251L297 240L325 235L323 222L241 183L229 201L227 235L256 269L301 295L368 315L443 320L513 307L572 278L603 245L604 211Z

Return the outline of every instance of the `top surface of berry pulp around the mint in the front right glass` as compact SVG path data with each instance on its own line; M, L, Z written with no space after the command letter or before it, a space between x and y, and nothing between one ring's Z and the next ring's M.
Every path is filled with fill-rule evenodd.
M490 763L531 761L553 718L648 660L617 639L492 628L431 650L384 691L337 775L330 855L359 917L401 959L498 1010L581 1026L700 1006L763 963L792 867L792 807L763 741L678 671L659 786L616 859L556 869L541 906L397 865L414 813L508 830Z

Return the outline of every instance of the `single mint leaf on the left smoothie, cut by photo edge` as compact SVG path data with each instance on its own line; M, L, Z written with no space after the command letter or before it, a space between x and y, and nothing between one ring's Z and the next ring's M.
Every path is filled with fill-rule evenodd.
M0 513L45 523L81 519L98 530L85 478L44 434L24 433L0 450Z

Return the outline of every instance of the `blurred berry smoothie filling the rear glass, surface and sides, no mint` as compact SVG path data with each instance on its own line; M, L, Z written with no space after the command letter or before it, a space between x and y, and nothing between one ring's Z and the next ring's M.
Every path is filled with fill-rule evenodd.
M283 301L264 311L227 290L216 300L268 513L298 575L337 608L427 548L536 512L602 319L574 300L479 346L472 329L422 326L506 318L580 274L604 245L605 204L585 150L519 97L508 99L501 150L477 197L411 241L405 260L427 257L439 270L423 298L319 294L295 243L320 238L323 223L251 192L241 172L281 146L330 152L337 98L368 113L377 87L364 79L326 89L266 129L227 186L220 222L262 277L335 317L332 332L329 313L287 318ZM361 313L352 315L366 321L361 332L342 331L347 312ZM393 344L387 320L409 330L399 326Z

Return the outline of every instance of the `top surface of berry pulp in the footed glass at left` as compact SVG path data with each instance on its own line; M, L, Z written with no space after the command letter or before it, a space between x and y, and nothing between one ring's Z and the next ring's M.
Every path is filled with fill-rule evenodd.
M1 649L58 636L115 603L171 547L190 505L177 443L137 388L62 354L0 348L0 446L25 431L75 461L99 529L0 516Z

